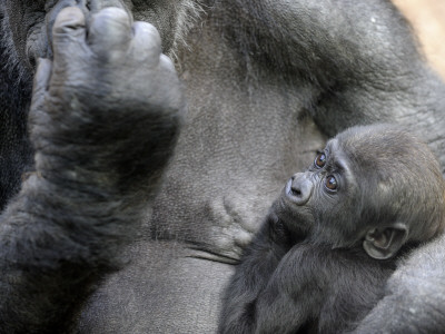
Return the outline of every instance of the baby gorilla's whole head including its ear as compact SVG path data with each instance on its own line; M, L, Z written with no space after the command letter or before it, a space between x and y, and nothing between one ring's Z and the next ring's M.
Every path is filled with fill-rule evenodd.
M377 259L444 229L445 183L428 147L388 126L350 128L294 175L274 210L298 237L363 245Z

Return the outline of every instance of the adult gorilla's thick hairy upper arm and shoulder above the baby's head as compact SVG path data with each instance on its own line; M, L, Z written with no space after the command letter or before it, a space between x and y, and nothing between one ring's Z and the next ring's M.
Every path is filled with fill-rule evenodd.
M227 29L265 68L314 85L308 111L328 137L358 124L394 121L421 129L445 166L445 86L390 1L239 3L226 7L244 13L231 14Z

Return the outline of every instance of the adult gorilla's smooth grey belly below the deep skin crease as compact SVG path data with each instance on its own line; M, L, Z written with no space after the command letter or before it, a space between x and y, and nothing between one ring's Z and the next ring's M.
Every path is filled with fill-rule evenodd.
M188 257L182 244L135 245L134 261L87 305L80 333L215 333L233 266Z

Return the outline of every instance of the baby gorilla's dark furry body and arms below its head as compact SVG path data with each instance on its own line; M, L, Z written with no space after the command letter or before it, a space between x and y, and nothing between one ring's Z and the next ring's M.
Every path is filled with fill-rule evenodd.
M221 333L352 330L382 298L394 271L390 262L377 263L363 252L305 243L296 244L285 255L286 249L280 249L281 258L270 257L266 250L270 243L266 234L261 236L263 252L258 252L258 244L247 250L228 287ZM278 244L273 248L279 249ZM259 271L267 275L261 276ZM260 286L255 287L257 275Z

